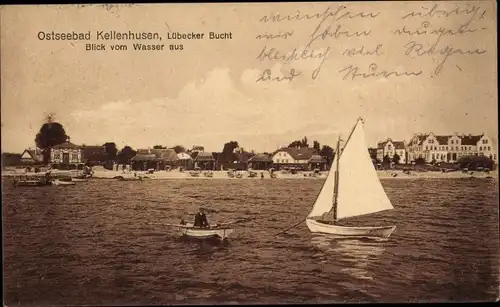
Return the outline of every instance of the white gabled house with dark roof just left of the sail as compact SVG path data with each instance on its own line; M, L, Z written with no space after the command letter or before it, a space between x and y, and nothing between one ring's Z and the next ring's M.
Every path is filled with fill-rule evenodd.
M311 147L285 147L278 149L273 154L273 165L277 169L298 168L309 169L309 160L318 155L316 149Z

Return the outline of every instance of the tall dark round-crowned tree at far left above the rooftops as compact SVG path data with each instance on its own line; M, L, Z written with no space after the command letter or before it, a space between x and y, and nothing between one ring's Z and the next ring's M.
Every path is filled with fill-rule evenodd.
M68 141L69 136L64 131L64 127L54 121L54 114L48 115L45 121L36 135L35 143L38 148L42 149L43 162L49 163L50 149Z

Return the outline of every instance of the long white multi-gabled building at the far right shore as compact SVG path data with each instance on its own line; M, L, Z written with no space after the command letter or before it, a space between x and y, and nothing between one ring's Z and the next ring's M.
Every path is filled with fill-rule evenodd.
M485 134L435 135L415 134L408 143L408 161L423 159L426 163L457 162L465 156L487 156L497 162L496 147Z

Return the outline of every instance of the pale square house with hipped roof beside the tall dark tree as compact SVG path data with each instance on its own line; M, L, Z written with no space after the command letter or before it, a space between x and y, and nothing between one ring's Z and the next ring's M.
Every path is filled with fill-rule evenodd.
M83 169L81 147L69 141L53 146L50 150L50 164L56 169Z

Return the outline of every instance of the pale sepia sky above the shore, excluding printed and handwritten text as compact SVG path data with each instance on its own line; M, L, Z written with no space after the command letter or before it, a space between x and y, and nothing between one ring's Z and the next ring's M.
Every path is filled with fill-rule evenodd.
M465 2L462 2L465 3ZM334 3L332 10L339 4ZM442 55L405 56L410 40L432 44L436 35L401 37L398 27L458 29L470 15L402 22L401 16L422 10L419 3L349 4L353 12L382 12L381 18L332 22L344 30L369 30L361 38L332 38L312 45L330 48L321 72L311 72L321 59L293 63L259 60L263 48L281 52L304 48L318 20L263 23L264 15L324 12L318 4L197 4L102 6L11 6L1 8L1 139L3 152L34 146L36 133L54 114L71 142L119 148L154 145L203 145L220 151L238 141L247 150L273 151L306 136L312 145L334 147L361 116L367 146L388 137L408 141L414 133L487 133L497 138L498 96L494 2L461 4L478 7L469 28L481 34L443 36L439 48L486 50L481 55L448 57L433 75ZM456 4L441 9L452 10ZM409 9L409 8L412 9ZM424 6L425 7L425 6ZM480 7L480 8L479 8ZM486 12L482 19L477 16ZM26 22L26 21L29 22ZM330 21L327 21L330 22ZM325 28L326 23L322 24ZM82 41L42 41L40 31L231 32L231 40L154 41L183 44L182 51L86 51ZM256 40L262 33L293 31L287 39ZM90 43L95 43L95 40ZM109 45L109 42L105 42ZM146 42L147 43L147 42ZM343 56L345 49L383 44L384 54ZM379 69L423 70L418 77L370 77L343 80L338 71L349 65ZM256 82L265 69L287 75L291 82ZM364 69L366 70L366 69Z

